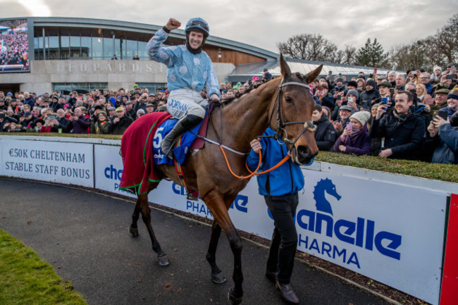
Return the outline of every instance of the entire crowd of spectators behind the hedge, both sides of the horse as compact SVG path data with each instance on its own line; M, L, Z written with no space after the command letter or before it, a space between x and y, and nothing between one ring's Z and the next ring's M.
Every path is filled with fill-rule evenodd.
M239 97L271 80L220 84L221 99ZM430 75L421 70L386 75L359 73L321 77L309 84L315 106L312 120L321 151L435 163L458 163L457 68L452 63ZM206 92L201 92L206 98ZM122 135L145 113L167 111L166 88L71 92L0 92L0 131Z

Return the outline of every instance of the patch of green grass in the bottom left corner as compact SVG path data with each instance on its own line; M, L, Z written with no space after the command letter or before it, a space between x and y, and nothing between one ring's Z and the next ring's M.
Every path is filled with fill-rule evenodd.
M0 304L87 304L32 249L0 230Z

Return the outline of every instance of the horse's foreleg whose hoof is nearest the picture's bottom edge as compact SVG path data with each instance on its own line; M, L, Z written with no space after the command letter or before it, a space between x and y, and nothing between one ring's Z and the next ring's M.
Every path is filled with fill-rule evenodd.
M230 249L234 256L234 287L230 290L228 297L231 304L240 304L243 299L243 274L242 274L242 239L230 220L228 210L221 194L211 191L203 198L206 206L211 211L215 221L220 225L229 239Z

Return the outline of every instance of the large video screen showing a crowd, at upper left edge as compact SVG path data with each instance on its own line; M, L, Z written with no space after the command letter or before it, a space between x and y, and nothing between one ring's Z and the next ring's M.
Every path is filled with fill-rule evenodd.
M28 71L27 20L0 20L0 72Z

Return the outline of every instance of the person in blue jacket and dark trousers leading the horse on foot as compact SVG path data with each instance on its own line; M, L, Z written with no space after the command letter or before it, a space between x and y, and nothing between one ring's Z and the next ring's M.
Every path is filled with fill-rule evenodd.
M273 136L276 132L268 127L263 136ZM247 158L247 166L255 170L259 163L264 171L273 168L290 152L280 139L261 137L250 142L252 151ZM313 163L313 161L312 161ZM285 301L299 304L297 295L292 290L290 280L297 248L297 231L294 221L299 196L297 192L304 188L304 176L301 168L291 158L280 167L264 175L256 176L259 194L264 196L268 209L271 211L275 228L269 249L266 277L276 282L276 289Z

